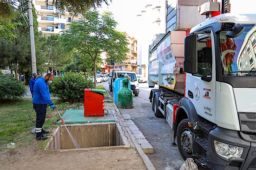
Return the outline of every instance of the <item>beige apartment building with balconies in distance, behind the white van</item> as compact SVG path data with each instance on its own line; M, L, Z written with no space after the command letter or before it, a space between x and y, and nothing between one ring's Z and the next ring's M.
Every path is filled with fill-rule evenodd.
M125 34L129 42L129 51L126 53L125 60L121 63L110 62L102 67L103 72L112 72L113 70L134 71L137 73L137 40L134 37Z

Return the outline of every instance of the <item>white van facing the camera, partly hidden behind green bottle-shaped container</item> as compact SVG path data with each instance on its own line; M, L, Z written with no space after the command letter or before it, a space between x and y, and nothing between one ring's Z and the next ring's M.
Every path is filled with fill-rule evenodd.
M133 94L135 96L139 96L139 92L140 92L139 82L138 82L137 74L133 71L113 70L112 76L108 79L110 91L111 92L113 91L113 82L117 78L123 78L125 73L127 73L131 78L130 83L131 83L131 90Z

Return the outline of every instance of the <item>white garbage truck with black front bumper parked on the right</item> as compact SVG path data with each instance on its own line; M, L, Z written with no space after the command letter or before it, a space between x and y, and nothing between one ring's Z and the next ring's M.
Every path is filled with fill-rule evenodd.
M256 169L256 14L217 15L151 46L150 102L181 156L214 170ZM177 144L175 142L177 139Z

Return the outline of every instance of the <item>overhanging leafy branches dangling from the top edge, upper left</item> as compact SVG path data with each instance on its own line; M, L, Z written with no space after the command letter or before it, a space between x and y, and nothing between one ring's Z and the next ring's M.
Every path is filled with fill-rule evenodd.
M111 0L109 1L111 2ZM0 0L0 20L12 20L18 3L19 0ZM78 16L90 9L101 7L102 3L108 5L108 0L53 0L52 3L60 13L64 13L68 9L70 15ZM46 0L46 5L48 5L48 0Z

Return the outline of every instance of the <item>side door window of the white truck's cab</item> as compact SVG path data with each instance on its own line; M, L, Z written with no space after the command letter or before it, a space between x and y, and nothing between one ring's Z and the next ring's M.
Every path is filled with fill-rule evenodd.
M211 38L207 37L197 42L197 73L196 75L212 75Z

